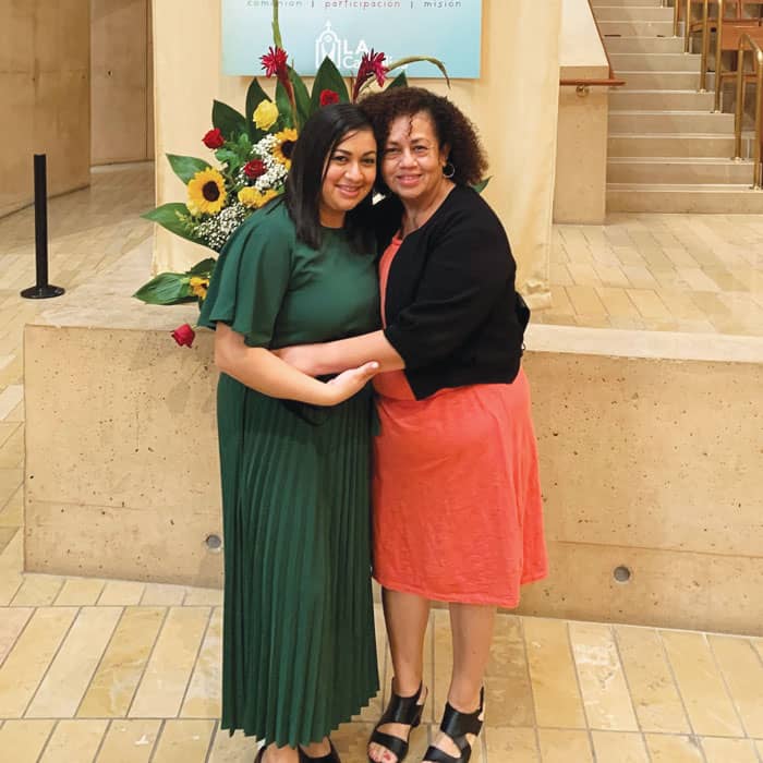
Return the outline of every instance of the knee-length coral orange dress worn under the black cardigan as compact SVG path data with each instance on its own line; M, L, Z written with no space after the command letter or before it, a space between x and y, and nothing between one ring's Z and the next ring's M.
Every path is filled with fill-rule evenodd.
M401 243L379 264L383 320ZM379 374L374 387L374 577L432 600L516 607L520 586L547 572L524 372L424 400L402 371Z

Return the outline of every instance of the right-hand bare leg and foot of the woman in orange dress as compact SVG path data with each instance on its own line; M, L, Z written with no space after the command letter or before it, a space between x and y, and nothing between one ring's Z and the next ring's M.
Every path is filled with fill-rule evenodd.
M480 689L491 658L496 609L477 604L450 605L450 631L453 639L453 673L448 702L461 713L473 713L480 706ZM468 737L474 743L472 735ZM439 732L435 747L456 758L459 749Z

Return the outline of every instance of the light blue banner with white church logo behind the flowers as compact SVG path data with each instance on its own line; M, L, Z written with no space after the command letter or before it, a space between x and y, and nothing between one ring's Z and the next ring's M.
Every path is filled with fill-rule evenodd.
M328 56L342 74L354 74L373 48L387 62L407 56L440 59L448 75L480 76L482 0L280 0L279 23L290 62L315 74ZM222 71L262 74L259 57L272 45L272 0L222 0ZM408 76L438 77L431 64Z

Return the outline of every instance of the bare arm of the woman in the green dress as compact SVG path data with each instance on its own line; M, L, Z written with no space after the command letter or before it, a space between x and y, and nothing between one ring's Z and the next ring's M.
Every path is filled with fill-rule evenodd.
M247 347L244 337L223 323L218 323L215 331L215 365L263 395L314 405L336 405L351 398L379 370L373 361L356 364L360 367L352 366L330 384L324 384L265 348Z

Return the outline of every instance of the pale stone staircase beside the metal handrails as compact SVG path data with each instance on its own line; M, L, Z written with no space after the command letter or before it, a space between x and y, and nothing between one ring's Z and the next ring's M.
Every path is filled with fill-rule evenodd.
M673 8L659 0L592 4L613 69L627 83L609 95L607 209L763 214L763 192L750 187L752 161L731 158L734 116L712 113L713 94L697 92L700 56L683 53L683 39L673 36Z

